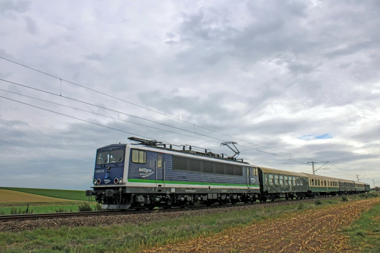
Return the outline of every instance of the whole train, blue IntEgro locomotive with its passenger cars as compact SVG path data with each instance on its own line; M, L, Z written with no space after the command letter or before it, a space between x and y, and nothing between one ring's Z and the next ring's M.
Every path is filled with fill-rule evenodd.
M95 196L102 209L227 205L370 190L366 183L265 168L207 149L128 139L137 143L97 149L93 187L86 196Z

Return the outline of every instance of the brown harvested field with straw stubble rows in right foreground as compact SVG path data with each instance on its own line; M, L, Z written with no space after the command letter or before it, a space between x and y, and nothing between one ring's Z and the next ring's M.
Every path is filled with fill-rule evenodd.
M374 198L305 210L143 252L360 252L350 246L350 238L340 233L341 228L379 204L380 198Z

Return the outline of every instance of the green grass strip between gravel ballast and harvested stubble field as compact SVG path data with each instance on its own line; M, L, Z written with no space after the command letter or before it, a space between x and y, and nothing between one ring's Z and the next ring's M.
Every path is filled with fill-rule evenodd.
M359 198L360 199L360 198ZM352 200L351 200L352 201ZM204 216L182 216L144 224L121 224L104 227L37 229L21 233L0 233L4 252L137 252L144 245L215 234L229 227L246 226L250 222L272 219L285 212L343 204L342 199L321 200L286 206L215 213Z

